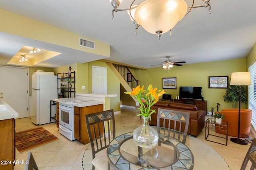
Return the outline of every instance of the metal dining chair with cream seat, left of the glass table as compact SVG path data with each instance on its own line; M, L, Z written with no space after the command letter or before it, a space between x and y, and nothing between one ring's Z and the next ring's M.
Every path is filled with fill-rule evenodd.
M113 109L85 115L85 121L92 147L92 169L112 170L104 149L116 138L115 131L113 131L116 128ZM132 162L138 162L137 156L125 152L124 150L121 150L121 152L126 157L130 157Z

